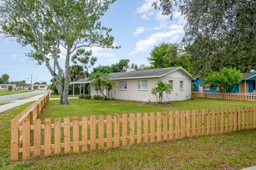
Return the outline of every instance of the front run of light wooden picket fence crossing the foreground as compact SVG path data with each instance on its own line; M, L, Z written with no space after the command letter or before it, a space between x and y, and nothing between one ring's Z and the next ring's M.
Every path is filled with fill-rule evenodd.
M65 117L63 122L50 118L41 124L36 119L31 125L24 120L22 125L12 123L11 160L85 152L87 150L126 147L135 143L153 143L185 137L228 133L256 128L256 107L208 109L202 111L175 111L83 116L81 121ZM23 145L18 148L19 132L23 131ZM113 143L114 142L114 143ZM30 146L30 143L34 145ZM63 149L62 149L63 148ZM19 155L20 153L20 155ZM34 154L33 154L34 153Z

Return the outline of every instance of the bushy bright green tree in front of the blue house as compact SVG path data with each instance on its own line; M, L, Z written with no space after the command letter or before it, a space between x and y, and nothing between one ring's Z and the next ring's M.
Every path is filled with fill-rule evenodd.
M236 68L228 69L223 67L219 72L210 73L204 78L203 83L209 84L211 87L219 88L220 92L230 92L235 84L241 83L243 76Z

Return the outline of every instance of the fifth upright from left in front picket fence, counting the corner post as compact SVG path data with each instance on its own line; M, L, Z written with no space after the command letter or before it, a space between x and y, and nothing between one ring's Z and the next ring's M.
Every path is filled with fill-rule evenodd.
M41 137L41 134L40 134L40 137ZM61 152L61 121L60 121L60 118L55 118L54 119L54 154L59 155L60 152Z

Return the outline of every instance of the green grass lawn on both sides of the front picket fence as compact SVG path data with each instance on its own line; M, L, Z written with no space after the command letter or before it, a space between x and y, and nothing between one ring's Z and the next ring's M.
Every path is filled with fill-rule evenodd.
M50 100L44 118L255 106L255 103L195 98L172 104L134 101ZM31 104L31 103L30 103ZM256 165L256 129L207 137L184 138L110 150L10 162L10 120L30 104L0 114L0 169L239 169ZM62 120L63 121L63 120Z

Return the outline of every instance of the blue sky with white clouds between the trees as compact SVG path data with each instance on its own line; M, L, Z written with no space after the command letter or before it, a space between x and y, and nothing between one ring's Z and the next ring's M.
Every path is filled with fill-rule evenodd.
M97 65L111 65L121 59L130 59L131 63L149 65L147 57L154 48L163 42L179 43L183 36L186 20L179 12L173 19L163 16L161 11L151 7L154 0L117 0L101 18L103 26L113 29L114 44L119 49L92 47L93 56L98 57ZM26 80L33 83L50 83L51 74L45 64L38 66L26 56L29 47L22 47L15 40L0 40L0 76L10 75L10 81ZM64 67L65 51L61 49L60 64ZM71 63L72 64L72 63Z

